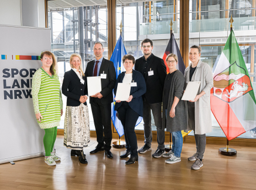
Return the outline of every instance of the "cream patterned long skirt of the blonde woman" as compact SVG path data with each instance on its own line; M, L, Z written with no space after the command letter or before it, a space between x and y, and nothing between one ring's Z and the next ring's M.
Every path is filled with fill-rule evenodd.
M83 150L90 143L90 122L88 106L67 106L64 121L64 146Z

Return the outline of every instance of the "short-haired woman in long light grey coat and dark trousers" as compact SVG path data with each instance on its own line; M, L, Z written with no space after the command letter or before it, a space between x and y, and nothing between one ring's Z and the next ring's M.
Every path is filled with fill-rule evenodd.
M187 158L194 161L192 170L203 167L203 154L206 148L206 133L211 132L210 90L213 88L213 73L207 63L200 60L201 47L192 46L189 60L192 62L185 70L186 84L189 81L200 81L200 88L194 100L186 101L188 109L188 130L194 131L196 153Z

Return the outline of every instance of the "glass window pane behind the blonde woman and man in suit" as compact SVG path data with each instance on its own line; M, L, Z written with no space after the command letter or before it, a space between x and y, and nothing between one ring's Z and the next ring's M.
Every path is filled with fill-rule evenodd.
M64 72L69 71L70 56L73 53L78 53L83 58L84 71L86 64L95 58L93 54L93 45L100 41L103 43L105 58L108 57L107 45L107 7L106 6L87 6L83 7L84 18L86 22L78 22L79 9L81 8L66 8L64 11L49 10L48 22L52 28L51 49L56 56L60 83L62 85ZM80 25L80 26L79 26ZM79 30L83 28L83 32ZM83 38L83 39L81 39ZM83 44L80 44L83 43ZM62 95L63 108L66 109L66 96ZM95 130L93 115L91 113L90 104L89 117L90 129ZM65 112L65 110L64 110ZM64 127L64 114L61 118L60 129Z

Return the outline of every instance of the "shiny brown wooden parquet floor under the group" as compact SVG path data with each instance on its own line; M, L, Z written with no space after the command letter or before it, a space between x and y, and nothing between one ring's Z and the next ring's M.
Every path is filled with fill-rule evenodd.
M143 144L138 141L139 148ZM90 155L96 145L92 138L84 148L88 164L80 164L63 146L63 136L58 136L56 150L62 161L53 167L46 165L43 157L1 164L0 189L256 189L255 147L232 146L238 154L227 157L218 153L220 145L207 144L204 166L193 171L193 161L187 161L196 151L193 143L183 144L180 163L165 164L167 158L152 158L157 147L153 142L153 151L139 154L139 162L132 165L119 158L124 148L112 148L112 160L104 151Z

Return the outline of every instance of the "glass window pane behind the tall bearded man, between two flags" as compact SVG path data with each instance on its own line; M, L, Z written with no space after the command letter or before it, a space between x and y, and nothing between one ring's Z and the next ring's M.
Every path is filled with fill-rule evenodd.
M179 3L177 0L149 1L130 4L117 2L117 39L120 37L120 23L122 21L122 39L128 54L135 59L143 56L142 40L149 38L153 41L155 56L163 57L170 39L170 21L173 23L173 33L179 45ZM152 130L156 130L152 116ZM144 130L142 122L136 130Z

